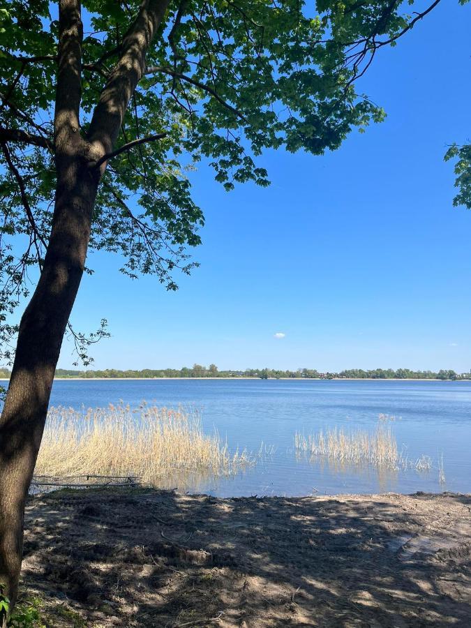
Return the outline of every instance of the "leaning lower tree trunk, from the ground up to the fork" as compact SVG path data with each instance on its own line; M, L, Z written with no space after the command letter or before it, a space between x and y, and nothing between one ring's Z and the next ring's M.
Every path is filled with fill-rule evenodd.
M0 584L11 606L22 562L24 502L43 435L63 334L84 271L98 188L99 172L87 167L84 151L80 155L73 146L69 149L70 156L63 153L57 160L50 241L38 285L20 323L0 418Z

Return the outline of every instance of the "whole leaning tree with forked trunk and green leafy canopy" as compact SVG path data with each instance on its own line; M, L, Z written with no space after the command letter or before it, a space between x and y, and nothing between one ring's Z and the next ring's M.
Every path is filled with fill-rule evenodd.
M14 358L0 419L0 583L12 604L63 335L86 358L105 333L69 324L87 251L176 289L172 271L195 265L187 248L204 223L186 174L195 163L227 190L266 186L264 149L320 155L382 120L355 80L439 1L408 16L396 0L318 0L312 14L299 0L0 0L0 357Z

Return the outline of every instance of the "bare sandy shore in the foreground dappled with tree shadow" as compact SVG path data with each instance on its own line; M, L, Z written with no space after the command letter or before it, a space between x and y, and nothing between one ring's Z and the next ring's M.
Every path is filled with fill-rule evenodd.
M27 506L23 578L87 626L464 627L470 500L59 491Z

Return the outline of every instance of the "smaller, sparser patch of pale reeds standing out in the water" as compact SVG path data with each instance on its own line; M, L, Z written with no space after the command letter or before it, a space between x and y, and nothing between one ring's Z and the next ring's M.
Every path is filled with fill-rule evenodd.
M311 458L325 456L339 463L368 464L394 470L400 463L396 438L384 425L378 426L373 433L364 430L347 432L338 427L308 436L297 432L294 446L298 453Z

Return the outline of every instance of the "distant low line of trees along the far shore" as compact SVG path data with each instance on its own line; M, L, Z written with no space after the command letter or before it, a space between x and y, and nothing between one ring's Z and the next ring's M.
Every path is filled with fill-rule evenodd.
M10 371L0 368L0 378L8 379ZM375 368L364 371L363 368L348 368L340 373L320 373L316 369L298 368L297 371L281 371L273 368L246 368L245 371L219 371L216 364L201 366L193 364L192 367L183 368L144 368L142 371L118 371L115 368L107 368L105 371L73 371L66 368L58 368L56 377L67 379L78 377L80 379L125 379L138 378L154 379L158 377L260 377L268 379L312 379L312 380L471 380L470 373L458 374L455 371L441 369L435 371L411 371L409 368Z

